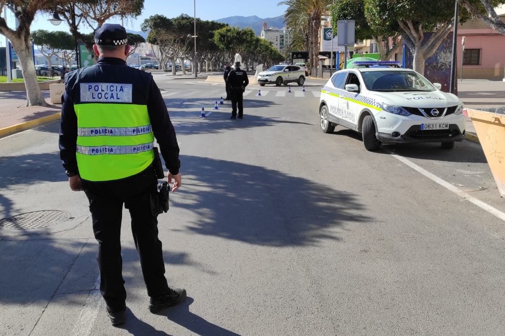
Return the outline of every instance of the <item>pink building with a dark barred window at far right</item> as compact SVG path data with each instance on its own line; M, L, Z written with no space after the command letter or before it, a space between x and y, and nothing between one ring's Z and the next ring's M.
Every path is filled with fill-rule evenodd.
M500 15L505 22L505 14ZM465 43L462 73L462 42ZM505 80L505 35L480 20L457 27L457 78Z

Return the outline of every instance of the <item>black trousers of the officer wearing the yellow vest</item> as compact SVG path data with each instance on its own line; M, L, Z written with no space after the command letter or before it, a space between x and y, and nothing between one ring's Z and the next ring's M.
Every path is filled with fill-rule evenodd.
M151 198L157 192L153 167L132 177L110 182L83 182L98 241L100 291L113 310L125 307L126 291L122 276L121 215L123 204L130 212L131 233L140 256L142 274L150 297L168 289L158 219L151 211Z

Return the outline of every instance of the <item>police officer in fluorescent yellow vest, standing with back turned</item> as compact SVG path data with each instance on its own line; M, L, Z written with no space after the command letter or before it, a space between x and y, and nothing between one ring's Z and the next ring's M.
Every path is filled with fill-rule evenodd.
M150 73L126 65L125 29L104 24L95 33L96 65L66 74L62 96L60 157L70 188L84 190L99 243L100 291L113 325L125 322L121 273L121 213L130 212L131 232L155 313L181 303L183 289L171 289L158 239L153 168L156 138L172 192L181 185L179 147L160 90Z

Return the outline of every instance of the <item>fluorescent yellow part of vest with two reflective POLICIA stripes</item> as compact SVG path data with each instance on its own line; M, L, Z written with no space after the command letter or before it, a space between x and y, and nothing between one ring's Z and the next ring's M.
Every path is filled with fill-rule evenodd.
M86 181L112 181L144 171L154 159L147 105L75 103L76 158Z

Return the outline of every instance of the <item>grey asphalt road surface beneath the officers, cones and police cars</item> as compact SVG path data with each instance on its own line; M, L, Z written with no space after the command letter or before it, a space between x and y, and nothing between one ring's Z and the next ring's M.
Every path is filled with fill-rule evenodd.
M0 229L0 335L503 334L505 206L479 145L368 152L351 131L319 130L320 81L251 86L232 121L229 102L214 109L224 85L155 79L183 176L160 239L188 300L148 311L125 212L128 321L110 325L55 123L0 140L0 218L70 214Z

